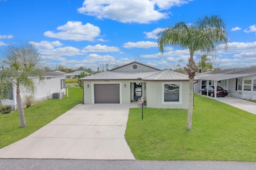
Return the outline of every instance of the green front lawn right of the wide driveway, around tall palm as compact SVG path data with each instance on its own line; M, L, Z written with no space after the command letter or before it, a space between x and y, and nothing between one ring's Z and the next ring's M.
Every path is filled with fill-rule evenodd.
M130 109L126 140L137 160L256 162L256 115L194 96L192 130L187 110Z

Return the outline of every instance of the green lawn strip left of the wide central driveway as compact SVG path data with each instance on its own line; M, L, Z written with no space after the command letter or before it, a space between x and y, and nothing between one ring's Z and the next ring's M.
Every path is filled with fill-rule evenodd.
M83 101L83 89L68 88L69 97L50 99L24 108L27 127L20 127L18 110L9 114L0 114L0 148L12 144L32 134L50 123L72 107Z

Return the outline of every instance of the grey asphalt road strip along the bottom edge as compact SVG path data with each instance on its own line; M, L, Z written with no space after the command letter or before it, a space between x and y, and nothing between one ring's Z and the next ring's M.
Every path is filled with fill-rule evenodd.
M0 170L255 170L256 162L0 159Z

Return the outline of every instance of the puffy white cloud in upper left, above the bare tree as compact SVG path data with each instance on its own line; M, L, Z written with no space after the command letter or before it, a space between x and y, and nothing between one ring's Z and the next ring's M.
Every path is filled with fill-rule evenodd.
M44 36L74 41L94 41L96 37L100 36L100 28L90 23L83 25L78 21L68 21L67 24L58 26L57 30L60 32L46 31Z

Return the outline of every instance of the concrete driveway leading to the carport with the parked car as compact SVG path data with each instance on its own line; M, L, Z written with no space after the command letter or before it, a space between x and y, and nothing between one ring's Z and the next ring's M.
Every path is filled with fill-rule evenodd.
M207 97L206 95L202 95L202 96ZM214 97L210 97L210 96L208 96L208 98L215 99ZM238 99L236 97L229 97L229 96L216 97L216 100L256 115L256 103L254 102L247 101L244 99Z

